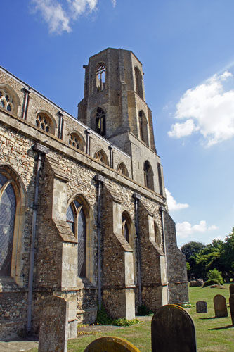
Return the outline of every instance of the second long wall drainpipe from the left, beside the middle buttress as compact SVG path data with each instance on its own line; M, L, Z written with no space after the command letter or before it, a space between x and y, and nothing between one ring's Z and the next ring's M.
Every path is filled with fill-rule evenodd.
M98 308L100 310L101 303L102 303L102 292L101 292L101 237L100 237L100 190L102 184L105 182L105 177L101 175L96 175L94 180L97 182L98 187L98 219L97 219L97 226L98 226Z

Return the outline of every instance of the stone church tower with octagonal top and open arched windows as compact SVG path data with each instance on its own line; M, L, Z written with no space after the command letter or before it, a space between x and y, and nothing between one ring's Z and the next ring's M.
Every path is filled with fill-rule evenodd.
M129 177L165 197L141 62L132 51L108 48L91 56L84 68L79 120L131 155Z

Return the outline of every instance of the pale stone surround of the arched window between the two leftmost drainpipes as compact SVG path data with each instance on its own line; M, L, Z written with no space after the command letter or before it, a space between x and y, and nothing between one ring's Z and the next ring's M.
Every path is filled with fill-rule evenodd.
M74 215L74 222L71 222L71 212ZM79 262L79 254L81 249L79 249L79 220L83 221L84 242L82 246L84 248L84 263ZM90 282L94 283L93 275L93 211L91 205L83 194L74 194L67 203L67 223L74 236L78 240L77 244L77 269L80 270L82 275L80 277L86 277ZM80 265L80 267L79 267Z

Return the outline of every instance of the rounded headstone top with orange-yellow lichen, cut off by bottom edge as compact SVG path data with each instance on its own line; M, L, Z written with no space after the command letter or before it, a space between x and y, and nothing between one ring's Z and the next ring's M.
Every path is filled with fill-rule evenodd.
M100 337L87 346L84 352L140 352L133 344L119 337Z

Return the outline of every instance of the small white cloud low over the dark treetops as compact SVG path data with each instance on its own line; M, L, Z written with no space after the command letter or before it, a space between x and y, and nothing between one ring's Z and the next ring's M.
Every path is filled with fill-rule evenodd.
M204 233L208 231L217 230L216 225L207 226L205 220L201 220L197 225L191 225L188 221L178 222L176 224L176 233L178 237L186 238L197 232Z

